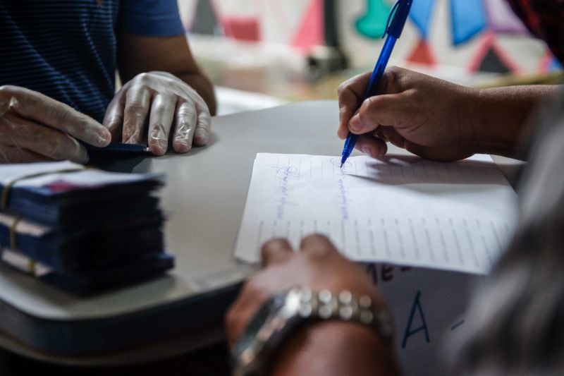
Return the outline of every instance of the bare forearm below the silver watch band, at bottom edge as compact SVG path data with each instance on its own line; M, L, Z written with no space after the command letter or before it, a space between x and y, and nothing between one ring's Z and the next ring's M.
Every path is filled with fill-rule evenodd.
M305 327L278 353L274 376L400 375L393 352L368 327L319 322Z

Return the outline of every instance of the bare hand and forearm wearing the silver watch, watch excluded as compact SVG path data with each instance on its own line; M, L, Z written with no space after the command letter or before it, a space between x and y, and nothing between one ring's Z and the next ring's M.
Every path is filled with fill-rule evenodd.
M343 257L324 236L304 238L296 253L288 241L262 248L264 269L243 287L226 315L228 341L235 343L267 298L292 286L312 291L349 290L384 305L362 268ZM280 348L271 375L398 375L393 351L373 331L349 322L315 322Z

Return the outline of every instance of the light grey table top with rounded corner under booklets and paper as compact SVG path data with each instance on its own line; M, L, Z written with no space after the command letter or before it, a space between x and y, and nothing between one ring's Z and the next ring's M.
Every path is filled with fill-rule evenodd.
M233 258L257 152L337 155L338 105L304 102L213 120L209 146L185 155L106 162L116 171L166 175L166 249L176 256L167 276L92 298L78 298L0 265L0 299L46 320L90 320L135 313L241 281L251 269ZM400 152L391 148L391 152ZM515 162L496 159L506 174Z

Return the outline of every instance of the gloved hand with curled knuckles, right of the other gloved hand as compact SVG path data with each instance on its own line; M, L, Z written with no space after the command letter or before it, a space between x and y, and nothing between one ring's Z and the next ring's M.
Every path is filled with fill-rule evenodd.
M145 143L163 155L168 142L178 153L206 145L212 116L204 99L187 83L166 72L135 76L121 87L106 110L104 126L112 140Z

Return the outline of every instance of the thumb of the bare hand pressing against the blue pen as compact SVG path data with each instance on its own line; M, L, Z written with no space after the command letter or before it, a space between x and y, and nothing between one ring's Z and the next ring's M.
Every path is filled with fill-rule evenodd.
M350 119L348 128L357 135L369 133L379 126L396 127L406 113L407 101L402 94L386 94L369 97L357 114Z

